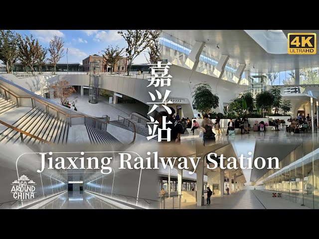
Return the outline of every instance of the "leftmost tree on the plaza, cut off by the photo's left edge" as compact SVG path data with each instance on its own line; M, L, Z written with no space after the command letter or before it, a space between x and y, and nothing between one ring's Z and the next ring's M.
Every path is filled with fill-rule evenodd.
M10 30L0 30L0 60L6 65L6 73L13 73L13 64L18 57L17 38Z

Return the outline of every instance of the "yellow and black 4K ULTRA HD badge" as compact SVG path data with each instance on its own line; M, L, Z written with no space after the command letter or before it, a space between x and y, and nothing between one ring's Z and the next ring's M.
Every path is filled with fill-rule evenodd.
M288 33L288 54L316 54L316 33Z

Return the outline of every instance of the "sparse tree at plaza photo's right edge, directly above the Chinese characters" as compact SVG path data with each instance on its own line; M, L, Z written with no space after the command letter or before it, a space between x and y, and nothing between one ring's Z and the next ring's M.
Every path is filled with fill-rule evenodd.
M160 30L147 30L149 32L149 64L156 64L160 60Z

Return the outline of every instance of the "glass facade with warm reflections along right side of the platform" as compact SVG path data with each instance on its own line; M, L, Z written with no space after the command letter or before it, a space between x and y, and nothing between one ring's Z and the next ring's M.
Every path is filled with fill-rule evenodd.
M304 142L271 169L260 182L282 198L319 209L319 142Z

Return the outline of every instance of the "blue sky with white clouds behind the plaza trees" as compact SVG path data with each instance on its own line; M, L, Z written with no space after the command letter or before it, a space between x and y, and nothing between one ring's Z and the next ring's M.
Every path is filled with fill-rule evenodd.
M126 41L117 32L118 30L15 30L21 35L30 35L39 40L43 47L49 46L54 35L63 37L64 56L60 62L66 62L66 48L68 48L68 62L82 63L89 55L102 55L109 45L120 48L126 47ZM125 55L125 53L123 54ZM49 57L49 53L47 54ZM134 64L147 63L144 53L138 56Z

